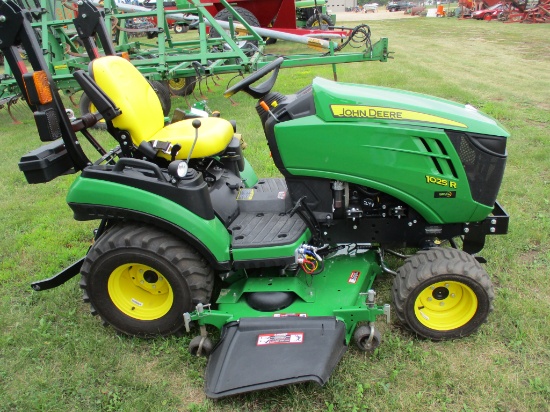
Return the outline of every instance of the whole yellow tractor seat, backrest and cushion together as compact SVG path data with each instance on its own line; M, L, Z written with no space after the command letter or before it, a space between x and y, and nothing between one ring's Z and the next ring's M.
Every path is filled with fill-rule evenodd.
M187 159L195 140L192 120L182 120L164 126L164 115L157 94L128 60L119 56L104 56L92 60L89 72L98 86L111 98L122 114L115 117L113 126L130 133L137 147L141 142L168 142L180 145L176 159ZM225 119L199 119L199 138L191 158L213 156L222 152L233 137L233 126ZM159 151L158 156L170 159Z

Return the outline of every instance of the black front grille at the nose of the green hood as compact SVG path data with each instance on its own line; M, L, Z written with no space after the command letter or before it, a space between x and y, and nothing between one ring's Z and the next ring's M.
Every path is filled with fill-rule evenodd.
M506 138L447 131L466 171L472 198L493 206L506 166Z

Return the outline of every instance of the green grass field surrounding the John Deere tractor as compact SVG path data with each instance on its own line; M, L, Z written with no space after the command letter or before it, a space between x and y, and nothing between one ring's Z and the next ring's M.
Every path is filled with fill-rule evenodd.
M383 343L373 355L350 347L324 387L208 400L206 360L187 352L194 335L119 336L90 316L77 278L54 290L31 290L31 281L86 253L96 223L72 219L65 195L74 175L26 183L17 163L40 145L34 122L18 110L23 124L13 125L3 110L0 411L550 410L550 25L434 18L373 21L371 29L373 39L389 37L394 59L338 66L339 81L470 103L511 132L499 195L510 231L489 237L482 253L496 290L488 323L468 338L434 343L394 319L380 325ZM290 50L295 46L278 42L267 52ZM284 70L276 90L293 92L315 76L332 78L332 69ZM221 96L231 77L201 89L213 109L237 120L258 174L275 175L254 101L241 93L232 104ZM173 99L173 107L189 102ZM390 285L389 277L377 281L381 301L389 301Z

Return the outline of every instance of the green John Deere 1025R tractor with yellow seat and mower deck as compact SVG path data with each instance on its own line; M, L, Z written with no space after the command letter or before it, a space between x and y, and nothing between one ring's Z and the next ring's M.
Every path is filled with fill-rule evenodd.
M69 119L26 16L1 4L0 49L49 143L20 168L30 183L79 172L67 202L75 219L100 222L87 255L34 290L80 273L92 313L119 332L193 327L189 349L209 355L211 398L324 384L352 341L375 350L376 320L390 318L373 290L384 273L394 276L395 315L416 335L460 338L487 320L494 292L476 255L486 235L508 228L496 202L508 133L494 119L469 105L323 79L283 95L272 91L277 58L225 92L258 100L283 176L259 179L234 122L194 110L165 125L154 90L116 55L75 72L98 113ZM79 34L90 46L95 33ZM100 118L112 150L88 131ZM396 272L388 254L404 259ZM221 330L215 345L209 325Z

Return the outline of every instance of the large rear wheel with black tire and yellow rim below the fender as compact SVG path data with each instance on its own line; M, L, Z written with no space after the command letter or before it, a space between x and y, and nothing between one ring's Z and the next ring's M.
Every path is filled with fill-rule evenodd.
M88 252L81 270L92 314L131 336L166 336L183 313L210 301L214 273L187 243L157 228L116 225Z

